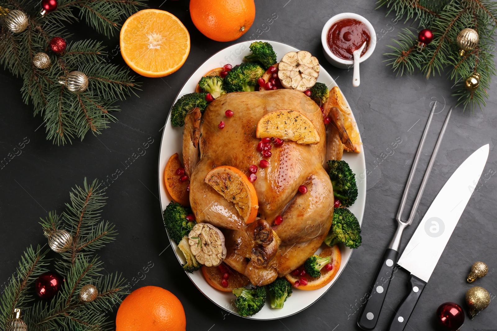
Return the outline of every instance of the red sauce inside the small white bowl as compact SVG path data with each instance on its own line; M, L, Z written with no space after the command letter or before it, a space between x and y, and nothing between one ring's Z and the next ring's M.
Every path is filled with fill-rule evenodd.
M368 50L370 40L366 24L353 18L336 21L328 30L328 47L334 55L343 60L353 60L352 52L366 42L361 53L363 56Z

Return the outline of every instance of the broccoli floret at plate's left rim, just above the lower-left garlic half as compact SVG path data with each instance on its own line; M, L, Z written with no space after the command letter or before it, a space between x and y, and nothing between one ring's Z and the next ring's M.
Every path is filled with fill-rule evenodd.
M188 235L194 221L188 221L186 215L191 214L190 207L183 207L181 204L171 201L164 210L164 223L166 224L167 233L172 240L179 244L181 239Z

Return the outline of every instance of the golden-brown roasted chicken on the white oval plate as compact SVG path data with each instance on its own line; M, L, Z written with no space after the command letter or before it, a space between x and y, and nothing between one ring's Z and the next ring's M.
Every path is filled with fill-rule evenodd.
M225 116L228 109L234 112L233 117ZM285 141L279 147L273 146L272 156L266 158L269 167L258 168L253 183L258 216L273 226L281 245L269 263L257 267L249 261L256 243L245 231L246 224L232 203L204 183L204 177L221 165L247 173L251 164L258 165L262 155L256 149L260 141L255 137L257 122L264 114L278 109L304 113L321 139L317 144ZM225 127L218 129L221 121ZM253 284L265 284L298 267L319 248L331 226L333 191L323 169L326 154L323 116L314 101L290 89L222 95L202 115L199 147L200 161L190 176L190 204L197 222L211 223L225 232L228 265L245 273ZM306 194L299 193L300 185L307 186ZM282 215L283 222L275 226L277 215Z

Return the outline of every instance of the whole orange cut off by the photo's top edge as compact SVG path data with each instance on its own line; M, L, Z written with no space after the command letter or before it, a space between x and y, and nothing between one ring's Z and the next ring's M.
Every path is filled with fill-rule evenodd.
M190 0L193 24L206 37L232 41L248 31L255 18L253 0Z

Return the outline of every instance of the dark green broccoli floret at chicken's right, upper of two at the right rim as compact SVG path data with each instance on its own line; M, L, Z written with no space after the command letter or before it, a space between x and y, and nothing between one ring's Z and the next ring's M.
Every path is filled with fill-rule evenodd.
M344 206L353 204L357 199L357 183L348 163L343 160L330 160L328 168L335 198Z

